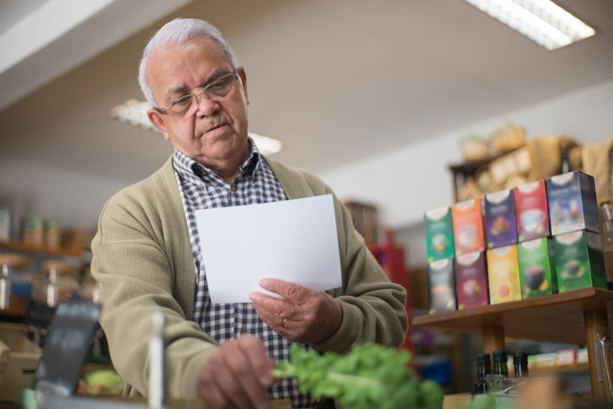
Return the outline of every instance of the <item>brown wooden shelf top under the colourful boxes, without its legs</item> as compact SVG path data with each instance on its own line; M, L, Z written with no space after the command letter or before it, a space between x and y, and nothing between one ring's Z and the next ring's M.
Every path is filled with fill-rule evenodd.
M613 291L585 288L493 306L422 315L413 318L413 325L475 334L481 334L486 327L502 327L508 337L585 345L584 312L601 310L606 310L609 318L613 317ZM609 323L613 328L613 321Z

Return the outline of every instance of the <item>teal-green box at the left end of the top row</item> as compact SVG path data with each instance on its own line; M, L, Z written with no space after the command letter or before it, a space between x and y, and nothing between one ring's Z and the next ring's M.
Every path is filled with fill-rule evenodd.
M425 212L425 240L428 263L455 255L451 209L439 208Z

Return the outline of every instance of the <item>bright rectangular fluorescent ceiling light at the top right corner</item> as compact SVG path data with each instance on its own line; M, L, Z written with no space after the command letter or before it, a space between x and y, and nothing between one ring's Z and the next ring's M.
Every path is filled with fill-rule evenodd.
M587 39L596 31L550 0L466 0L547 50Z

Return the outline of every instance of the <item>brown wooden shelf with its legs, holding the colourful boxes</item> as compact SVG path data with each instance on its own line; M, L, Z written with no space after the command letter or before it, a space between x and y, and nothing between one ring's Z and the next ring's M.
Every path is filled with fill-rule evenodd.
M604 399L598 381L598 337L613 328L613 291L584 288L521 301L413 318L414 326L482 334L485 353L505 349L504 337L585 345L592 396Z

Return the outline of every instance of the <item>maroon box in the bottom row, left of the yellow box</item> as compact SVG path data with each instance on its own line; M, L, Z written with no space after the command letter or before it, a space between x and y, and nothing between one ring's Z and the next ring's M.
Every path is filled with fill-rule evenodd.
M455 295L459 310L490 303L485 253L476 252L455 258Z

